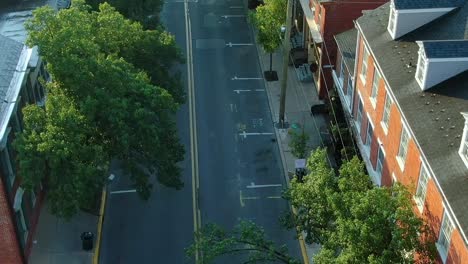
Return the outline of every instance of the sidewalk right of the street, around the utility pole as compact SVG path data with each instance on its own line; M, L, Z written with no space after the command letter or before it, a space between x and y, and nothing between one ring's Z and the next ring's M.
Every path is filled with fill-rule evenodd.
M262 72L268 70L270 63L269 54L257 45L258 56ZM282 79L282 48L278 49L273 54L273 70L278 73L279 80L275 82L267 82L266 90L270 104L272 119L275 124L279 120L279 100ZM289 129L300 129L304 126L304 131L309 135L307 146L310 150L317 147L324 146L326 134L320 131L326 131L326 116L324 115L311 115L310 107L312 105L321 104L318 98L317 89L313 81L300 82L296 75L294 66L288 68L288 80L286 90L286 108L285 108L285 121L289 124L289 128L279 129L275 128L276 137L278 139L281 160L283 163L284 175L292 175L295 171L294 161L296 157L291 154L289 147L290 136L288 135ZM329 158L329 162L335 165L333 158ZM289 176L286 177L289 185ZM304 243L305 244L305 243ZM309 263L312 263L312 256L318 252L318 245L305 244L307 258Z

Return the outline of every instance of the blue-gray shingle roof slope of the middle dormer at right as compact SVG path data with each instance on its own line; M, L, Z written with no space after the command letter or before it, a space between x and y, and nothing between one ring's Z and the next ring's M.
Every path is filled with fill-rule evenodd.
M427 58L467 58L468 40L424 41Z

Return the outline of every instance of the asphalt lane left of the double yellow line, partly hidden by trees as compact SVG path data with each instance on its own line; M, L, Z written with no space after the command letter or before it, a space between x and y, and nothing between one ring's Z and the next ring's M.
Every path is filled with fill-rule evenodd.
M183 3L166 2L161 14L166 29L176 36L176 42L185 52L185 25ZM186 67L180 67L184 84ZM186 87L186 85L185 85ZM185 187L176 191L157 182L151 198L144 202L131 190L128 177L114 164L116 178L109 185L106 215L101 244L101 264L178 264L192 263L184 249L193 240L192 189L190 167L190 137L188 106L183 105L177 115L177 128L186 146L181 163Z

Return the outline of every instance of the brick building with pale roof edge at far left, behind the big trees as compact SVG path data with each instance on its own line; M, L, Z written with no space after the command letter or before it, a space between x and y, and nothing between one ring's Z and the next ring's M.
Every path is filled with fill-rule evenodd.
M42 201L42 187L25 192L12 146L22 130L21 109L44 103L48 79L36 49L0 35L0 263L25 263Z

